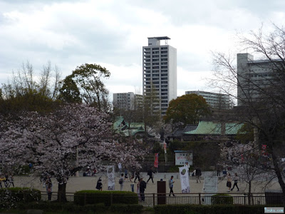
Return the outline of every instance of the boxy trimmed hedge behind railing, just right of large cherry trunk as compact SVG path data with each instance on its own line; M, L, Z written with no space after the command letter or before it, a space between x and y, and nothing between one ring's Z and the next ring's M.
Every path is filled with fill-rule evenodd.
M138 204L138 195L123 191L81 190L74 193L74 202L78 205L104 203L107 206L113 203Z

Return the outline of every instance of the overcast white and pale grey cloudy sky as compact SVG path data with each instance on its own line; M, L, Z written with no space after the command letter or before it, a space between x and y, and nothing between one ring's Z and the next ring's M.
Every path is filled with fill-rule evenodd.
M177 49L177 95L214 91L211 51L239 52L236 33L270 31L284 0L0 0L0 83L23 62L51 61L62 78L83 63L105 66L110 93L142 91L142 46L168 36Z

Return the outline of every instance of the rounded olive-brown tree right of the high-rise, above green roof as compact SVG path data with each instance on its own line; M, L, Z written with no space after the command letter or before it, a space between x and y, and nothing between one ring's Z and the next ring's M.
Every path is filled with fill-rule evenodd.
M179 124L197 124L199 119L208 116L209 106L202 96L195 93L186 94L170 101L164 117L166 123Z

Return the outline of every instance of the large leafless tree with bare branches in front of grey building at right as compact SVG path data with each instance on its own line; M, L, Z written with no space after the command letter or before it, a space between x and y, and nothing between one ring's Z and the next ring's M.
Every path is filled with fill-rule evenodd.
M285 197L284 165L280 161L285 156L285 29L274 25L274 31L264 34L261 27L249 36L238 37L240 44L257 55L259 61L238 54L237 58L248 57L244 58L247 63L236 63L237 58L232 54L214 52L215 78L210 83L237 100L234 110L239 121L254 127L259 146L267 145Z

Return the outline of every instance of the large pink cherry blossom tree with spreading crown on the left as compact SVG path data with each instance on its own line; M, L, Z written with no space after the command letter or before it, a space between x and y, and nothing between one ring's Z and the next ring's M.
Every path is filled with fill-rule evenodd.
M66 200L71 175L89 165L103 168L103 161L139 168L145 151L140 143L114 133L108 115L83 104L61 106L41 115L22 113L16 120L1 120L2 165L33 163L39 173L58 181L58 200Z

